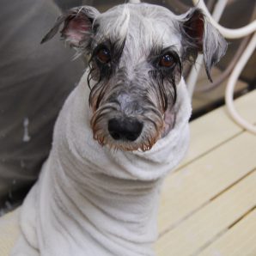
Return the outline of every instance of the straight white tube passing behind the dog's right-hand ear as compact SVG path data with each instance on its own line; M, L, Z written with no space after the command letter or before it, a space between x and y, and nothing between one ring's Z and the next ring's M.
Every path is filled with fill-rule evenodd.
M212 12L212 17L216 21L220 20L227 3L228 3L228 0L217 1L215 8ZM196 63L192 66L192 70L190 71L189 76L186 79L186 83L188 85L187 86L188 93L190 94L191 99L192 99L192 95L193 95L196 83L198 81L199 72L201 70L201 66L203 65L203 62L204 62L204 56L201 54L198 55Z

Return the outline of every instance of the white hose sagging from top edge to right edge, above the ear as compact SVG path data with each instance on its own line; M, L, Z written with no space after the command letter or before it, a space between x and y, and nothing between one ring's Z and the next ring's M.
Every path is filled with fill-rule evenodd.
M254 31L256 31L256 21L253 21L252 23L248 24L245 27L236 28L236 29L229 29L226 27L222 27L212 18L203 0L192 0L192 2L195 6L204 10L204 13L208 16L212 25L216 27L225 38L238 39L248 34L252 34Z

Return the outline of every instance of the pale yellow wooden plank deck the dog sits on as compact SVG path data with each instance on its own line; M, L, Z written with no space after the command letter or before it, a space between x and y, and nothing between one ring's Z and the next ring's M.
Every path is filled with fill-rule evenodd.
M256 90L235 106L256 123ZM191 132L186 160L162 188L156 255L256 256L256 136L225 107L194 120ZM1 256L17 236L16 215L0 219Z

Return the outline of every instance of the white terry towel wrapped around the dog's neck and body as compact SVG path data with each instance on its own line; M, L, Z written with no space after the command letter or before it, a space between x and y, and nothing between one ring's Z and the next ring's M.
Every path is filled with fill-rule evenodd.
M13 255L155 255L162 180L189 140L185 82L177 86L176 122L168 136L149 151L124 152L93 139L86 81L87 74L58 116L51 154L21 208Z

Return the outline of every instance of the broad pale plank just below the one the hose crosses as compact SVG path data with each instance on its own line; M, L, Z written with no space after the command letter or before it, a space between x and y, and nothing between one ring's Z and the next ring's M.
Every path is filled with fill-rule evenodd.
M256 137L243 132L185 168L162 187L159 229L164 232L256 167Z

